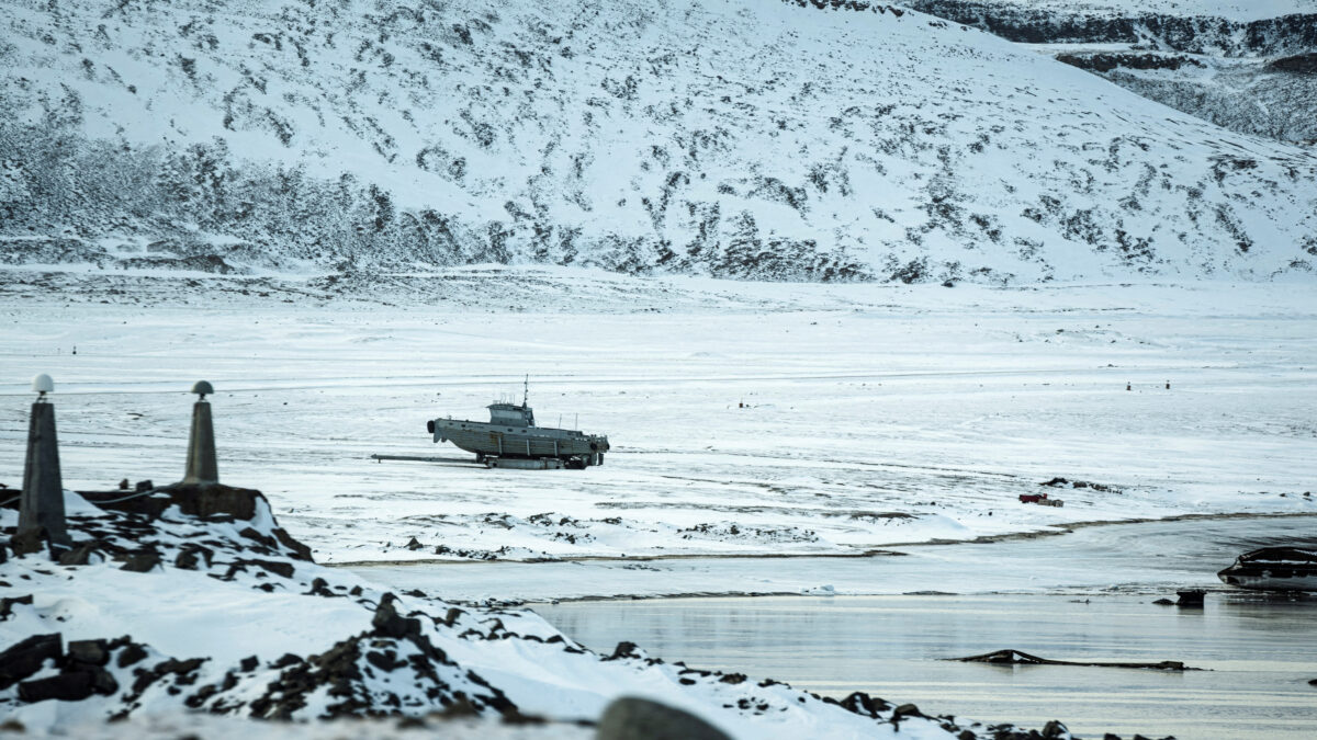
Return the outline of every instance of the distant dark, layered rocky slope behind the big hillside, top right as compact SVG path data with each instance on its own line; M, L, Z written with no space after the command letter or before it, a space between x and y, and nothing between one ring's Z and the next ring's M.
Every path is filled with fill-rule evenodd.
M913 8L1009 41L1058 46L1058 59L1227 129L1317 142L1317 4L1295 0L1275 17L1213 14L1220 4L1023 4L913 0ZM1295 11L1295 12L1288 12ZM1192 13L1192 14L1187 14ZM1092 45L1127 45L1126 53ZM1068 49L1077 46L1079 49Z

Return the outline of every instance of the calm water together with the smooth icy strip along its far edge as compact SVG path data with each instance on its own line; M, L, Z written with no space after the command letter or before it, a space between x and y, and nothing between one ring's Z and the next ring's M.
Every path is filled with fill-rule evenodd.
M632 641L691 668L865 691L926 714L1101 737L1317 737L1317 595L1227 589L1239 552L1317 545L1317 517L1239 517L1079 528L990 544L898 548L903 557L707 558L635 564L357 568L448 598L738 594L587 599L532 608L577 641ZM1206 586L1202 608L1155 604ZM939 591L928 594L919 591ZM819 595L847 593L852 595ZM857 595L863 594L863 595ZM954 662L998 649L1067 661L1183 661L1202 670Z

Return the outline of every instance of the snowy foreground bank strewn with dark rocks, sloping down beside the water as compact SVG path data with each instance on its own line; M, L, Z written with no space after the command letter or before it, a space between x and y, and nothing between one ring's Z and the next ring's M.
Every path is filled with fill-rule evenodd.
M532 736L564 737L581 736L572 728L593 724L614 698L637 695L734 737L990 735L864 694L823 699L669 665L631 643L599 656L528 611L399 596L308 560L257 491L179 485L88 496L100 507L70 494L79 557L0 548L11 593L0 608L0 722L37 733L100 735L99 722L119 719L167 735L180 712L199 711L456 718L468 723L460 729L462 718L485 718L494 736L525 736L507 728L529 723L540 728ZM0 512L0 532L12 535L16 512ZM138 566L144 552L149 568ZM1017 732L1027 736L1013 727L1005 736Z

